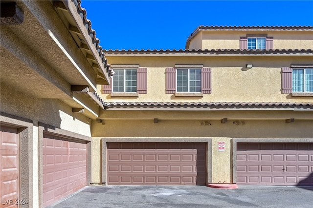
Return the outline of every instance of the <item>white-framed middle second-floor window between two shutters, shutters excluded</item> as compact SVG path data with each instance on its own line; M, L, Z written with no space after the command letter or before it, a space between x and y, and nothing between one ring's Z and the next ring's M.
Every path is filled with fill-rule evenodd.
M201 69L177 69L177 92L201 92Z

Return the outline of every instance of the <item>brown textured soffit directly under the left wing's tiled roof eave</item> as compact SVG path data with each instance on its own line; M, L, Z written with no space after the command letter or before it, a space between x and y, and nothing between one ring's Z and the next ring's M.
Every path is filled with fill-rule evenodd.
M88 82L77 70L73 63L68 59L60 46L51 38L43 25L37 20L30 10L20 1L19 6L24 13L24 21L20 25L1 25L2 28L9 28L14 36L23 42L21 47L29 48L39 55L51 68L53 68L61 77L70 84L87 84ZM47 1L46 3L49 3ZM48 20L47 20L48 21ZM58 38L61 34L52 34ZM30 54L25 54L30 55ZM85 60L85 62L87 62ZM91 67L90 67L91 68ZM91 71L93 71L91 69ZM96 74L87 75L94 77Z

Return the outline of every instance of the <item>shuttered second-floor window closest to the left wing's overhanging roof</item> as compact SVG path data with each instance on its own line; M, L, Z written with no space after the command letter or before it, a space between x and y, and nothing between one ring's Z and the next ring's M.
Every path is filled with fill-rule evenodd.
M133 97L147 93L147 68L138 65L112 66L115 74L110 85L102 85L103 94L111 94L112 97Z

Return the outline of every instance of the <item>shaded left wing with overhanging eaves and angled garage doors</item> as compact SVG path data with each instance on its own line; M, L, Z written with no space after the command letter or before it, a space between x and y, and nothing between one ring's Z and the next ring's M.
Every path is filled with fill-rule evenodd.
M91 182L112 71L76 0L1 1L0 34L0 207L45 207Z

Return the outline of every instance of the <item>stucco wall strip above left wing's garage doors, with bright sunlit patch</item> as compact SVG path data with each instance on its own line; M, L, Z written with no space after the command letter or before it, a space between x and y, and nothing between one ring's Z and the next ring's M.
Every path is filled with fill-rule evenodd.
M1 83L1 112L91 136L89 119L57 99L37 99Z

